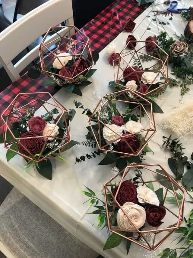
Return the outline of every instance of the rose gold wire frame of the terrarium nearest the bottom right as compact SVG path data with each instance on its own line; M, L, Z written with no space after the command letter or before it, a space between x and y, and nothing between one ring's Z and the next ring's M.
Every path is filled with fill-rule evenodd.
M157 166L159 169L161 169L164 174L161 174L159 172L156 171L156 169L153 169L151 168L152 166ZM149 168L150 167L150 168ZM120 189L120 186L123 182L123 179L125 178L125 176L128 174L128 172L134 168L138 174L140 175L139 179L141 180L140 182L138 182L138 184L141 183L141 185L147 185L147 183L155 183L155 182L160 182L160 181L168 181L168 185L167 185L167 188L166 188L166 192L164 194L164 203L163 203L163 207L168 211L170 212L172 215L174 215L176 218L177 218L177 222L166 227L166 228L156 228L155 230L144 230L144 231L141 231L139 230L135 224L130 220L130 218L128 217L128 215L125 213L125 211L123 210L122 206L119 204L119 202L116 200L117 198L117 194L119 193L119 189ZM157 179L157 180L152 180L152 181L144 181L143 178L142 178L142 175L139 171L139 169L141 168L144 168L146 171L143 171L143 174L145 172L151 172L151 173L155 173L157 175L161 175L163 176L164 179ZM117 191L116 191L116 194L115 196L112 195L112 191L109 190L109 188L111 186L116 186L115 184L112 184L111 182L119 177L119 176L122 176L121 180L119 181L119 183L117 185L119 185ZM134 184L137 184L137 182L133 182ZM182 203L179 204L179 201L178 201L178 198L176 196L176 192L175 192L175 189L174 189L174 185L176 185L179 190L182 191ZM164 204L165 204L165 201L166 201L166 196L167 196L167 193L168 193L168 189L169 188L172 188L172 192L176 198L176 201L177 201L177 206L178 206L178 209L179 209L179 215L176 215L173 211L171 211L169 208L167 208ZM176 182L176 180L171 176L169 175L169 173L159 164L136 164L136 163L132 163L131 165L127 166L125 169L123 169L122 171L120 171L117 175L115 175L113 178L111 178L109 181L107 181L104 186L103 186L103 189L104 189L104 197L105 197L105 204L106 204L106 213L109 215L107 216L107 223L108 223L108 228L109 228L109 231L111 231L112 233L115 233L121 237L124 237L125 239L127 240L130 240L131 242L133 243L136 243L138 244L139 246L141 247L144 247L146 248L147 250L150 250L150 251L155 251L182 223L183 223L183 212L184 212L184 198L185 198L185 190ZM107 194L110 194L111 197L112 197L112 201L110 201L110 203L108 203L108 198L107 198ZM113 207L112 207L112 202L113 202ZM111 205L112 207L112 213L110 213L108 211L109 209L109 206ZM128 220L131 222L131 224L135 227L136 230L132 231L133 234L135 233L135 235L131 236L131 237L127 237L125 236L124 234L122 234L121 231L124 231L124 232L128 232L127 230L122 230L122 229L119 229L118 227L116 228L115 226L113 227L112 226L112 220L113 220L113 216L114 216L114 212L115 212L115 208L116 207L119 207L122 212L125 214L125 216L128 218ZM166 232L166 235L165 237L163 237L158 243L155 243L155 238L157 236L157 234L161 233L161 232ZM131 232L131 231L129 231ZM153 236L153 242L152 244L148 242L145 234L148 234L148 233L152 233L154 234ZM135 238L137 238L138 236L141 236L144 240L144 242L147 244L143 244L143 243L140 243L139 241L135 240Z

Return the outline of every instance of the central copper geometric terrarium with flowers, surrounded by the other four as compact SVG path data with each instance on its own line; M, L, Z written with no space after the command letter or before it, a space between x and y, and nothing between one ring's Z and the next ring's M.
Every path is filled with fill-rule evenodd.
M152 104L128 90L104 95L88 122L98 148L119 158L139 155L156 133Z

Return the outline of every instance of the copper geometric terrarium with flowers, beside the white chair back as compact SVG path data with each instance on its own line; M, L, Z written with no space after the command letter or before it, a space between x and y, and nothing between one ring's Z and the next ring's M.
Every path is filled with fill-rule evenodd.
M53 40L50 34L57 36ZM58 85L80 84L94 65L89 38L72 25L49 28L39 54L42 71Z

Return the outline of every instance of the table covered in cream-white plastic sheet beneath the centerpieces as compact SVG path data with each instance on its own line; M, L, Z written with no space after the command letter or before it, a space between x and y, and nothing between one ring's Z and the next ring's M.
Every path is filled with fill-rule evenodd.
M158 2L159 1L156 1L155 4ZM184 4L186 7L189 7L191 5L191 0L179 2L179 5L182 7L184 7ZM159 5L159 9L163 8L165 8L163 5ZM169 17L165 18L159 16L160 21L166 21L167 19L169 24L166 24L164 28L160 24L158 24L159 27L157 27L156 22L152 21L152 18L154 17L153 13L150 12L151 9L151 7L147 8L135 20L136 27L133 34L137 39L140 39L142 36L141 40L145 40L149 35L153 36L154 34L158 34L159 31L164 28L169 35L174 34L176 31L178 34L183 33L185 23L181 22L182 19L180 18L180 15L173 15L172 21L169 20ZM147 27L150 27L151 29L147 31ZM114 41L117 42L117 52L120 52L124 47L127 36L128 33L121 32L114 39ZM73 95L64 89L61 89L55 93L55 98L68 109L74 108L74 104L72 102L75 99L83 103L85 107L93 109L93 106L95 106L99 101L98 96L96 95L113 92L112 88L109 88L108 86L108 81L114 80L113 67L109 66L107 63L105 48L100 52L100 58L94 68L97 68L97 71L93 77L91 77L91 86L82 88L84 97ZM185 96L183 101L186 101L186 98L192 98L193 91L191 90L187 95L188 96ZM179 99L179 88L173 88L172 90L167 89L157 103L161 106L164 113L168 113L178 106ZM71 122L72 139L77 141L84 141L85 134L87 133L87 119L86 117L84 119L84 116L81 115L81 113L81 109L77 109L77 114ZM164 115L155 114L155 120L157 123L162 116ZM148 153L146 155L145 162L160 163L164 168L166 168L166 170L171 172L166 159L166 157L169 157L169 153L164 153L163 149L159 146L162 144L162 136L168 135L168 133L169 132L163 131L160 127L157 127L157 133L149 143L150 148L153 149L155 154L153 155L152 153ZM186 153L191 154L191 142L184 142L184 144L186 146ZM106 229L97 230L96 225L92 227L97 215L88 215L87 213L93 210L92 207L88 207L87 204L82 204L87 200L87 197L78 191L79 189L84 190L83 184L95 191L97 196L99 196L103 184L112 177L111 170L114 166L97 165L100 162L101 157L97 157L80 164L74 164L75 157L79 157L80 155L90 152L91 150L89 148L80 145L76 145L67 152L64 152L63 156L68 162L64 164L61 160L57 160L52 181L49 181L39 175L32 168L28 169L27 172L22 172L25 161L18 155L11 159L10 162L7 162L5 157L6 150L3 145L1 145L0 175L14 185L14 187L21 191L22 194L27 196L27 198L33 201L43 211L54 218L59 224L65 227L71 234L89 245L96 252L106 258L128 257L123 243L121 243L117 248L102 251L107 239ZM190 209L190 204L186 203L185 215L188 214ZM166 242L164 242L155 253L148 253L148 257L155 257L161 250L169 247L170 242L175 239L175 235L176 234L173 234L172 237L166 240ZM145 255L147 255L145 250L141 250L137 245L131 244L129 252L130 258L143 257Z

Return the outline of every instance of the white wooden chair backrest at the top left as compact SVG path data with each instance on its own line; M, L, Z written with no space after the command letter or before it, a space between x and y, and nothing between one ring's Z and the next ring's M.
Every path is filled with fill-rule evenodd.
M56 26L62 21L66 21L67 25L74 25L71 0L49 0L0 33L0 62L12 82L17 80L20 77L19 73L38 57L39 45L15 65L12 64L14 57L47 32L50 27ZM60 34L65 32L66 30L63 29ZM73 30L70 30L69 33L72 35ZM54 34L51 37L54 40L58 38L58 35Z

